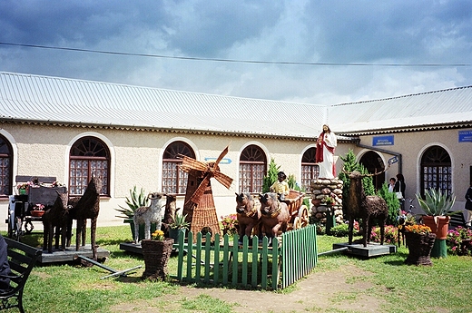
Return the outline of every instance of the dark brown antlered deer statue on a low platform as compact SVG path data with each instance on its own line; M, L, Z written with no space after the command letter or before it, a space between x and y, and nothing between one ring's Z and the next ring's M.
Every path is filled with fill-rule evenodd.
M384 171L387 171L384 170ZM349 215L349 244L352 244L352 230L354 220L362 220L362 244L367 247L370 241L370 233L374 219L380 223L380 244L383 245L385 236L385 222L388 217L387 202L379 196L366 196L362 187L362 178L366 176L375 176L375 174L361 174L359 171L345 172L350 180L349 196L346 201L346 211Z

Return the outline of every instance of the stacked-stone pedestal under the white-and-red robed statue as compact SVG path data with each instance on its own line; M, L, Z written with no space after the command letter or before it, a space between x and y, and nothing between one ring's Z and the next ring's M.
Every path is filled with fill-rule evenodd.
M336 224L343 222L342 214L342 186L343 181L319 179L311 182L310 220L326 225L326 216L329 210L334 212Z

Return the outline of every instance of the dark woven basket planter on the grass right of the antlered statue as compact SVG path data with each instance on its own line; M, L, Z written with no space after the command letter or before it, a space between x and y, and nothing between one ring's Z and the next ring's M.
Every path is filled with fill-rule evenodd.
M419 234L414 232L405 232L407 247L409 250L408 258L405 264L413 265L433 265L430 254L436 240L435 233Z

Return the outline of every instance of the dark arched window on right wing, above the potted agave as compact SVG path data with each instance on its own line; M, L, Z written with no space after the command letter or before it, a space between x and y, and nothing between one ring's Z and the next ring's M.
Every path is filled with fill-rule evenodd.
M421 158L421 194L434 188L447 194L452 192L452 167L449 153L439 146L429 147Z

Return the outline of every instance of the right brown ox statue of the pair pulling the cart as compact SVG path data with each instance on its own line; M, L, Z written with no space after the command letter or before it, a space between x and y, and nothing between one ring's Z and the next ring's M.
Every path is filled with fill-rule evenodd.
M277 198L277 193L274 192L259 194L262 232L269 237L270 242L279 234L279 231L287 231L290 221L287 203L280 202Z

